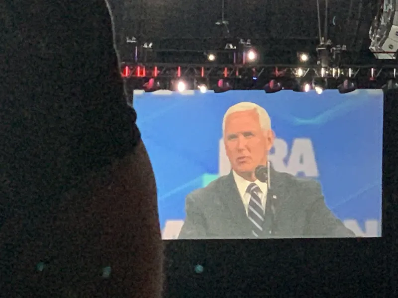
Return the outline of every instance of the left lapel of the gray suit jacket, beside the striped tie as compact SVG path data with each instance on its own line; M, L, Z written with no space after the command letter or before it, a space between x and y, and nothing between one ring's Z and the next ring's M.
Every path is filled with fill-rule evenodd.
M232 171L228 174L223 185L221 186L220 194L222 194L222 204L226 206L231 213L233 222L242 230L242 236L246 235L248 232L250 233L249 219L247 218L242 199L239 195L238 188L236 187Z

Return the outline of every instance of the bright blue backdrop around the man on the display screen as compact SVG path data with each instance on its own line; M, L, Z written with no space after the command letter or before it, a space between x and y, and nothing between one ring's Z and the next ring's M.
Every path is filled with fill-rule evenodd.
M315 178L338 218L361 226L369 219L381 222L381 90L136 92L137 124L155 172L162 229L168 220L184 220L187 194L218 177L222 118L241 101L264 107L277 138L289 148L297 138L312 141Z

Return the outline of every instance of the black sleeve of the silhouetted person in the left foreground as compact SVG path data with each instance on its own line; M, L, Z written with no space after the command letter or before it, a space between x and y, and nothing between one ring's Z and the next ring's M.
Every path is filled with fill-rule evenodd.
M13 197L44 197L130 133L111 17L101 0L1 1L0 26L1 175Z

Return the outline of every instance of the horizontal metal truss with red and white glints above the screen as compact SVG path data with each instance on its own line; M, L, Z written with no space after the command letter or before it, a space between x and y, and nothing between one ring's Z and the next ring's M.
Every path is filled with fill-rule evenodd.
M398 64L390 65L341 65L335 68L322 68L318 65L211 65L211 64L130 64L121 65L124 77L160 78L279 78L279 77L323 77L390 79L397 77Z

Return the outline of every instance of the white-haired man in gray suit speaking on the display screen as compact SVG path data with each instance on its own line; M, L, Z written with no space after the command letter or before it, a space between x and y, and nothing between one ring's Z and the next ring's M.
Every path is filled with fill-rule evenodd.
M187 196L179 239L355 237L327 208L318 182L269 165L275 134L265 109L238 103L222 130L231 172ZM265 181L258 166L268 167Z

